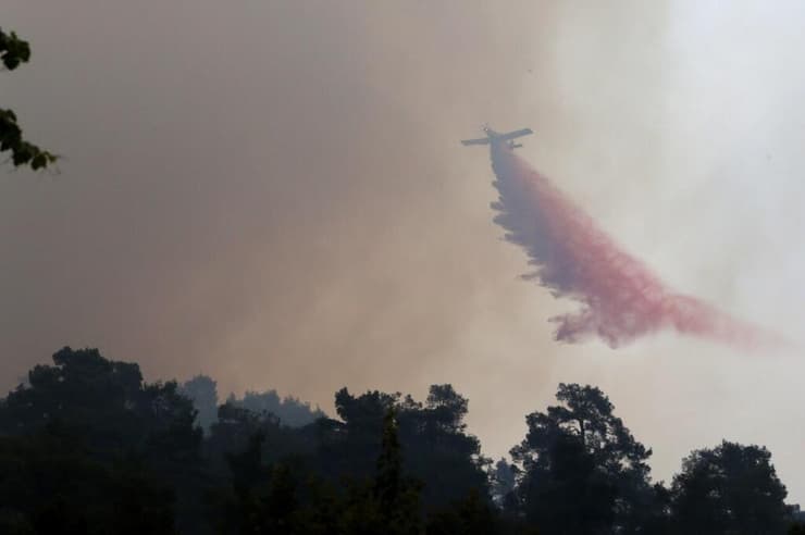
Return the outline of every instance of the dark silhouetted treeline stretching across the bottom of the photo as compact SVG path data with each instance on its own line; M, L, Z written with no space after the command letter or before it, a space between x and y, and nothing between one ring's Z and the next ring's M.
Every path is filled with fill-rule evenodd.
M210 400L209 377L149 384L60 350L0 401L0 533L805 533L767 449L723 441L653 483L651 449L591 386L559 385L497 463L450 385L343 388L338 419L275 391Z

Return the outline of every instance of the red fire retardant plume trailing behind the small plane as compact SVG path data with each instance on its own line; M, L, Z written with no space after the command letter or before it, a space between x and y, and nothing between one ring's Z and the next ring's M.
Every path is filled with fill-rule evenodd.
M575 343L600 337L618 347L664 328L741 348L777 346L780 340L690 296L667 288L643 263L623 252L593 220L544 176L501 142L493 144L494 185L506 239L531 258L533 278L555 297L581 303L575 313L552 318L556 339Z

